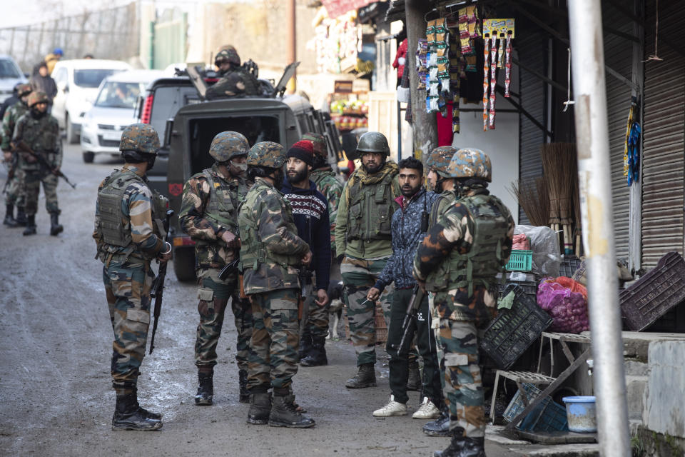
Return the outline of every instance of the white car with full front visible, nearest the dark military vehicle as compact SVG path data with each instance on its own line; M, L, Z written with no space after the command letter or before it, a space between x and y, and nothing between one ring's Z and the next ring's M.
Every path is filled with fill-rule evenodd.
M83 116L81 124L84 162L91 163L95 154L118 156L121 131L138 122L139 97L148 84L163 75L160 70L132 70L113 74L102 81L93 107Z

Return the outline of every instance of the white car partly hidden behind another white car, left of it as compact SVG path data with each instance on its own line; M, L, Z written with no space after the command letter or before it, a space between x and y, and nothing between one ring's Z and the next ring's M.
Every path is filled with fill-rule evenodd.
M83 116L91 109L103 79L119 71L131 70L126 62L117 60L76 59L55 64L52 77L57 84L52 115L66 129L69 143L78 143Z

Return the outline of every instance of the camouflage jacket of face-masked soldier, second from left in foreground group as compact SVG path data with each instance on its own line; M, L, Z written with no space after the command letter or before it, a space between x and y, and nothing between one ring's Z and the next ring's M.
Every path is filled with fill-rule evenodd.
M227 248L221 235L228 230L238 236L238 206L247 193L245 179L235 176L225 179L217 164L192 176L183 186L178 221L181 229L196 242L196 268L221 268L238 256L238 250ZM219 211L230 221L218 221L208 214L212 199L218 200Z

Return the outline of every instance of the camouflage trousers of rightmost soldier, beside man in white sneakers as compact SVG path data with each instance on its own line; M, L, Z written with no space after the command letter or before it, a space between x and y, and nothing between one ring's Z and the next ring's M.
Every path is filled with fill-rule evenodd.
M470 438L485 436L476 325L472 321L442 318L436 333L442 392L450 409L450 431Z

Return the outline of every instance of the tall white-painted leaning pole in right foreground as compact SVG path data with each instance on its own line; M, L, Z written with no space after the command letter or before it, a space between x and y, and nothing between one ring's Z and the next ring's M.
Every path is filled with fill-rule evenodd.
M600 2L570 0L569 25L599 453L629 457Z

